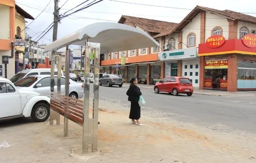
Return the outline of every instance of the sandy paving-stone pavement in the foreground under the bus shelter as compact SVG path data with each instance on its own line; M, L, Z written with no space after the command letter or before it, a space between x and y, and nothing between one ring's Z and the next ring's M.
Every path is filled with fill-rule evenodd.
M34 123L30 118L0 123L0 163L255 163L256 137L220 133L202 126L141 112L144 126L131 124L127 103L101 97L99 154L83 160L71 157L82 148L82 127L69 121L63 137L60 125ZM113 104L115 102L115 105Z

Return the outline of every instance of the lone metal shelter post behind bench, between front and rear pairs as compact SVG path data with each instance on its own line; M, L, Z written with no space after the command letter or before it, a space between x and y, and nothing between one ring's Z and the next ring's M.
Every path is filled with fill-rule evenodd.
M69 96L69 46L66 47L65 96ZM67 137L69 127L68 118L64 117L64 137Z

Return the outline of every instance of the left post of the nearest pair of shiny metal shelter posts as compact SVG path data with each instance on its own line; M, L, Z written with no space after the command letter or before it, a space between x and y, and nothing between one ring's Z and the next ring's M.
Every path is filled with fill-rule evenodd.
M83 153L88 152L89 143L89 98L90 98L90 39L85 42L84 100L83 100Z

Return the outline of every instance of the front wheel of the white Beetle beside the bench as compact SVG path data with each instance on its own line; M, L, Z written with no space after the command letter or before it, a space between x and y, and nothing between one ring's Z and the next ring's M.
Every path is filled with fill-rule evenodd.
M38 103L34 105L31 111L31 118L36 122L44 122L50 116L50 108L45 103Z

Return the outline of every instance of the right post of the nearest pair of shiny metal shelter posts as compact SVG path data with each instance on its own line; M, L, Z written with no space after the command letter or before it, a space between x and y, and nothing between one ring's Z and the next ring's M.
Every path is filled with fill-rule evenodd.
M96 44L94 55L94 84L93 84L93 145L92 152L98 149L98 117L99 117L99 63L100 44Z

